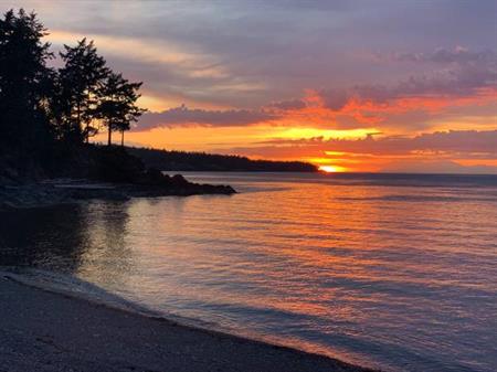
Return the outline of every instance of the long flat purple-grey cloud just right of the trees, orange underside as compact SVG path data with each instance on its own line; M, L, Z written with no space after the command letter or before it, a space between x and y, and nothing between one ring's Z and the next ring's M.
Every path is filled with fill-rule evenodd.
M161 113L147 113L139 120L135 131L148 130L157 127L235 127L271 121L277 116L264 110L229 109L208 110L201 108L188 108L182 105Z

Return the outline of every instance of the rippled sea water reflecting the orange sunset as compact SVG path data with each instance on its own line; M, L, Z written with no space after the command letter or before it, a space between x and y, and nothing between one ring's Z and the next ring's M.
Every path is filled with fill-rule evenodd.
M240 193L2 213L0 266L385 371L497 371L497 177L186 174Z

